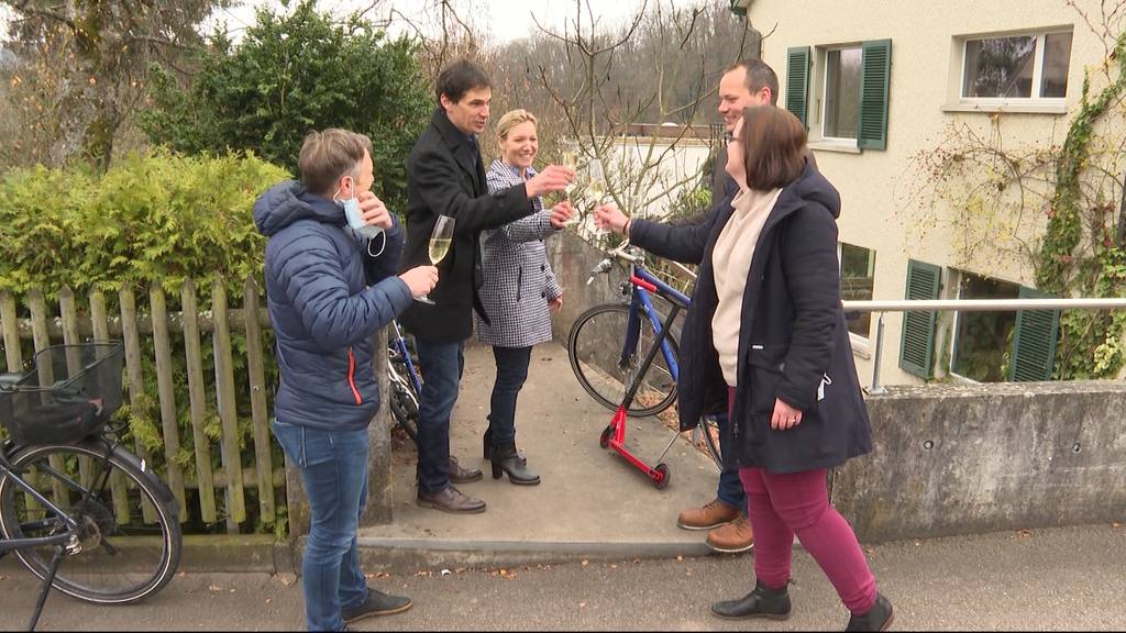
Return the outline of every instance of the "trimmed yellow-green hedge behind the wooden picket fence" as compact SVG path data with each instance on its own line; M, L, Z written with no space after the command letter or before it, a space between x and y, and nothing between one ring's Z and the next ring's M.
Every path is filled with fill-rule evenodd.
M148 287L160 285L170 311L178 311L180 286L196 282L199 309L211 307L212 282L226 282L231 307L241 306L248 275L261 278L266 239L254 229L253 200L274 184L288 178L282 168L253 155L216 158L182 157L167 151L122 160L104 176L83 168L18 170L0 180L0 289L17 302L28 289L39 287L48 306L57 306L57 294L69 286L86 313L84 297L92 289L106 292L110 314L117 311L117 292L132 287L138 310L148 312ZM81 314L80 314L81 315ZM24 312L20 316L27 316ZM233 337L239 413L239 444L244 467L253 465L253 431L245 373L245 338ZM207 435L213 439L213 466L218 467L221 435L214 398L214 356L209 337L203 337L204 374L208 394ZM187 391L187 365L182 335L172 335L172 366L180 454L177 462L186 478L195 476L191 420ZM30 355L25 344L24 357ZM151 451L159 469L164 464L152 339L142 339L145 393L141 405L125 407L134 438ZM263 337L267 384L274 385L272 337ZM275 447L275 465L280 464ZM284 498L277 517L258 515L252 489L247 490L249 531L284 531ZM222 491L216 501L222 505ZM204 525L198 503L189 493L189 532L222 529ZM220 512L222 515L222 508ZM280 520L279 520L280 519Z

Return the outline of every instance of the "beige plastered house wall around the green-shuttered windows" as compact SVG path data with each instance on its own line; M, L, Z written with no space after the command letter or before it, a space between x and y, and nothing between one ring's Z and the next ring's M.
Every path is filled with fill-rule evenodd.
M1098 15L1097 1L1081 0L1080 5ZM951 268L1035 285L1028 258L1013 253L1011 239L999 233L989 247L977 248L967 257L959 248L960 235L949 224L948 212L936 217L920 211L912 198L919 184L912 157L937 146L951 124L962 123L986 137L1000 131L1009 148L1062 144L1067 123L1078 110L1084 68L1100 64L1106 55L1101 38L1091 33L1078 12L1062 0L752 0L748 18L756 29L769 34L762 41L762 59L778 73L779 106L786 101L787 50L813 47L807 121L811 146L822 172L841 193L840 240L876 251L875 298L903 298L909 259L944 268L944 297L953 297L957 289L953 287L957 276L949 274ZM1049 110L1034 113L1015 113L1013 108L1001 114L956 112L962 78L959 36L1061 27L1073 32L1065 107L1056 107L1055 112L1034 108ZM887 149L832 151L817 142L824 68L817 47L873 39L892 41ZM1099 87L1097 80L1093 87ZM1026 208L1020 220L1018 234L1035 239L1046 216L1043 208ZM886 314L885 324L881 382L918 382L899 368L902 315ZM873 319L870 344L875 336ZM936 355L942 336L936 342ZM857 367L861 382L867 384L874 354L858 342Z

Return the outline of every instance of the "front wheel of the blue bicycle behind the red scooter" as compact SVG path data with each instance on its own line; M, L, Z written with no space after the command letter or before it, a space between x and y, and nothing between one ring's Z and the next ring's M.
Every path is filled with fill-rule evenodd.
M596 305L575 320L568 337L568 356L579 384L598 403L616 411L625 400L626 391L637 377L641 364L656 344L653 324L640 318L641 333L635 349L623 359L629 306L622 304ZM665 339L673 359L678 357L677 341L671 333ZM677 398L677 381L672 377L664 355L658 353L645 372L637 393L631 403L631 416L655 416L668 409Z

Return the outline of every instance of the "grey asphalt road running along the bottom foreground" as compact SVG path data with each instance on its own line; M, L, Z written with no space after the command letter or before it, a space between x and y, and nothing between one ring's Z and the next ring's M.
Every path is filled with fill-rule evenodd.
M869 547L894 630L1126 628L1126 528L1091 526ZM788 622L726 622L714 599L750 587L749 556L581 562L373 577L414 608L356 628L763 631L842 630L843 607L813 561L795 554ZM30 576L0 561L0 628L26 624ZM288 583L288 585L287 585ZM300 583L262 574L187 574L142 605L97 607L57 594L42 630L297 630Z

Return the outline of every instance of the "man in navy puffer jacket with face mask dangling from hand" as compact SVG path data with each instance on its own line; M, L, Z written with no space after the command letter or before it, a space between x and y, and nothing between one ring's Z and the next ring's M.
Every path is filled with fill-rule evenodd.
M300 168L301 181L258 198L254 224L269 238L266 295L280 374L274 433L301 467L312 512L302 567L305 619L310 631L340 631L411 606L367 587L356 528L367 498L367 426L379 409L372 335L432 289L438 269L395 276L402 230L370 190L366 136L310 133ZM367 239L351 230L346 207L369 225L364 232L378 226L382 234Z

